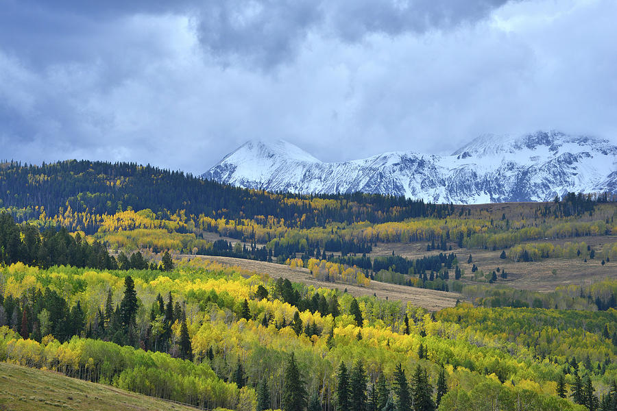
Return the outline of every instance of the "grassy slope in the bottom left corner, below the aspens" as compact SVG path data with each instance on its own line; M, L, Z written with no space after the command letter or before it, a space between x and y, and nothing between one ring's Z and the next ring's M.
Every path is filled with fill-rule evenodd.
M53 372L0 362L0 410L196 410Z

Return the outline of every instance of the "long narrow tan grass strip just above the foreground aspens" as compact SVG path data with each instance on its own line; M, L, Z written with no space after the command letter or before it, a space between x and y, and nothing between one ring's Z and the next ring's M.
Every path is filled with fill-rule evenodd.
M267 275L271 278L283 277L289 279L291 282L302 282L315 287L330 289L338 288L339 290L347 288L347 291L356 297L362 295L376 295L377 297L383 299L388 298L405 302L409 301L414 306L424 307L431 311L441 310L441 308L446 307L453 307L456 305L457 299L464 299L463 296L457 292L426 290L424 288L399 286L397 284L387 284L376 281L372 281L370 287L368 288L341 283L324 282L313 278L309 269L292 269L290 266L276 264L273 262L261 262L218 256L184 255L182 257L204 258L204 260L212 260L230 266L238 266L245 270L256 271L258 273L267 273Z

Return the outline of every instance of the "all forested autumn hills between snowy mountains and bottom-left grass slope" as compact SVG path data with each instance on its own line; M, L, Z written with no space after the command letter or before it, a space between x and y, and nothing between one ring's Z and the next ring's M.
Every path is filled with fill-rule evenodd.
M67 161L2 164L0 201L0 360L200 408L616 410L605 195L295 197Z

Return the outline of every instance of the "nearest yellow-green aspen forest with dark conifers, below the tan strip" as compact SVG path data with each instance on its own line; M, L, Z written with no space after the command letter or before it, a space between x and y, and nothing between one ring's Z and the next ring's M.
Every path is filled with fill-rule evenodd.
M195 406L614 409L614 310L431 314L198 260L0 273L2 360Z

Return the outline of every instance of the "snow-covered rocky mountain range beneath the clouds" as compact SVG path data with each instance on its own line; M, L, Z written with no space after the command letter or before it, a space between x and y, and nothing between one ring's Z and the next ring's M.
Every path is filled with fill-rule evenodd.
M452 155L396 151L328 163L289 142L251 140L202 177L303 194L362 191L437 203L548 201L566 192L617 192L617 146L536 132L480 136Z

